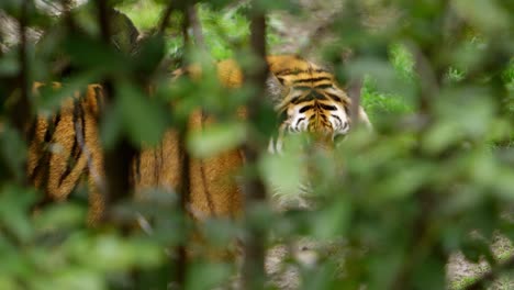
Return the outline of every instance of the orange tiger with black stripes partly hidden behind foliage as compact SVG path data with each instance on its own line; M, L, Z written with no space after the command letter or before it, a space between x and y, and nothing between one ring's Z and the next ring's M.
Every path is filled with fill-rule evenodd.
M311 132L331 143L338 135L346 135L353 120L371 126L362 108L350 118L351 100L337 85L327 69L297 55L272 55L266 58L269 67L267 94L278 115L278 137L270 140L269 150L279 153L282 136ZM243 86L241 67L233 59L217 65L217 78L222 86L236 89ZM174 78L189 75L200 78L201 71L192 67L179 69ZM34 85L34 93L43 83ZM59 89L62 83L54 83ZM65 200L87 179L89 187L88 222L94 224L105 210L101 194L104 177L104 156L99 140L99 122L104 105L104 89L89 85L82 92L64 99L57 112L38 114L30 126L30 147L26 174L33 185L42 189L48 200ZM170 104L171 105L171 104ZM243 108L237 114L246 118ZM215 123L212 115L202 110L193 111L188 131L194 132ZM130 180L136 192L152 188L169 191L180 186L182 168L179 134L169 129L159 146L142 146L134 157ZM230 149L209 158L191 158L189 165L189 209L197 216L235 217L243 210L242 187L236 172L244 166L245 156L239 148Z

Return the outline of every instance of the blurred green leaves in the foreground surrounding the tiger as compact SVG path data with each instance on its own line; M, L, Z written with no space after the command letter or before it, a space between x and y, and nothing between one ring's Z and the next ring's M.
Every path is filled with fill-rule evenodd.
M101 123L108 148L124 135L137 147L158 144L167 129L183 127L199 107L220 122L188 136L193 156L214 156L242 145L247 132L262 132L234 116L253 88L227 91L209 66L209 59L252 58L250 3L198 4L205 53L183 45L179 11L172 13L163 37L155 34L166 1L115 2L147 37L136 41L132 24L116 14L121 24L114 25L111 36L122 43L116 49L100 41L96 15L72 14L81 27L78 33L56 27L65 22L31 8L29 24L47 34L38 46L27 45L29 79L59 79L51 71L63 54L75 68L64 78L66 88L31 99L34 113L48 116L71 91L109 78L114 102ZM257 2L271 11L313 12L289 1ZM298 267L304 289L445 289L452 285L446 265L455 253L472 261L485 259L492 267L512 258L499 259L490 248L495 234L514 237L511 2L346 1L324 27L334 34L334 43L324 47L311 40L319 56L332 62L338 79L364 80L361 104L375 132L353 130L333 153L309 148L302 136L288 136L283 155L262 154L257 165L249 165L248 172L265 179L271 202L293 199L311 207L254 209L254 222L269 230L270 245L293 244L304 236L331 245L314 266L292 256L286 259ZM19 4L2 1L0 10L16 18ZM85 8L96 11L89 4ZM388 18L394 21L370 27L367 22L386 10L393 11ZM269 29L268 46L280 45L280 37ZM355 55L342 62L339 55L347 47ZM3 96L12 91L20 74L18 54L14 47L1 55ZM181 58L201 63L205 72L201 82L182 78L171 85L168 70ZM166 59L178 60L163 70ZM176 270L170 253L187 239L189 230L203 233L205 244L215 248L244 235L239 221L212 219L194 226L185 222L177 197L161 191L144 192L116 209L120 220L146 232L127 233L115 223L88 227L86 205L74 199L38 207L43 193L18 181L24 175L26 144L7 115L12 99L3 100L0 289L164 289ZM276 124L269 114L259 122ZM297 190L300 187L310 190ZM208 252L204 244L188 242L194 250ZM226 287L236 269L226 260L201 255L189 266L187 289Z

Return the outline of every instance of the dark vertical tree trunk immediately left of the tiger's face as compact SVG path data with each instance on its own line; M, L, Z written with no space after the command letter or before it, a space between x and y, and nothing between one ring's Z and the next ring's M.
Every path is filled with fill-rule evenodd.
M252 48L258 59L258 65L247 74L249 83L254 86L254 94L248 102L248 121L255 125L258 123L259 111L264 108L262 97L269 70L266 62L266 15L264 12L254 11L250 20L250 33ZM258 161L262 148L259 146L261 142L258 136L255 136L256 134L258 132L255 130L250 132L244 146L246 160L250 166ZM244 193L247 234L244 239L243 288L264 289L266 231L262 225L253 221L252 213L266 200L266 189L256 172L246 177Z

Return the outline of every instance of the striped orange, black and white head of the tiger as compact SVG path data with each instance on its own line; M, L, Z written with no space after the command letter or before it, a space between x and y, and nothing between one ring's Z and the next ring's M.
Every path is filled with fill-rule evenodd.
M351 101L334 75L298 56L269 56L268 64L268 91L281 120L276 150L281 150L284 134L308 132L325 147L346 136ZM361 108L357 118L370 126ZM273 152L271 144L269 149Z

